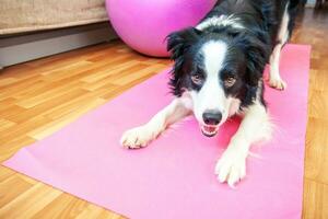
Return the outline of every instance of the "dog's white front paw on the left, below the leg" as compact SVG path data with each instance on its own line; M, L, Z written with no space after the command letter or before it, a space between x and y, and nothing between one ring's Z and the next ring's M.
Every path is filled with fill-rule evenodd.
M140 126L127 130L120 138L120 145L130 149L143 148L155 138L156 135L154 131L151 131L147 126Z

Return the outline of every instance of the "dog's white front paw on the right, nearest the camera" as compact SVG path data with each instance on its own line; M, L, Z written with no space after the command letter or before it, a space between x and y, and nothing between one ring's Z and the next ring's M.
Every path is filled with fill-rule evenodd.
M246 176L246 157L247 154L237 149L227 149L215 166L215 174L220 183L226 182L234 187L244 178Z

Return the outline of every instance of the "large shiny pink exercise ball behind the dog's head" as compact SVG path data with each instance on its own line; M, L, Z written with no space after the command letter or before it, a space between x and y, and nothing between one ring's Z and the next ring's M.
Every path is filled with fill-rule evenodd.
M167 57L165 37L196 25L216 0L106 0L109 20L120 38L141 54Z

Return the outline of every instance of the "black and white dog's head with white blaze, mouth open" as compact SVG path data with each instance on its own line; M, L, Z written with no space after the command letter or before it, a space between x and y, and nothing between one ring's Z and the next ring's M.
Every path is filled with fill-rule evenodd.
M212 137L230 114L250 104L268 58L267 46L251 33L189 27L168 35L175 61L171 87L192 99L202 132Z

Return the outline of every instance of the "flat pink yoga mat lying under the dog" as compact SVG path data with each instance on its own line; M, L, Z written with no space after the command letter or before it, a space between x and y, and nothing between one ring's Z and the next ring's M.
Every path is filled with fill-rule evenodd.
M4 165L132 219L301 218L309 50L284 48L288 90L266 91L274 137L253 148L256 155L236 189L216 181L214 165L237 119L211 139L189 118L149 148L119 146L124 130L148 122L172 99L166 71L20 150Z

